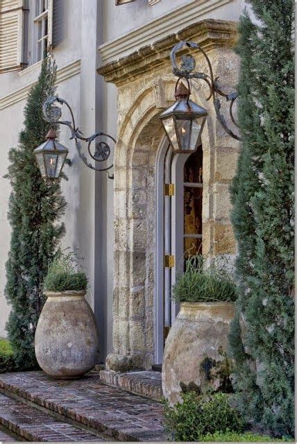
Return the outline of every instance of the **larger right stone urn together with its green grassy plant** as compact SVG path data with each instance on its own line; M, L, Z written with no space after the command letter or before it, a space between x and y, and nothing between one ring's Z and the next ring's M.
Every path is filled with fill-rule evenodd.
M232 391L226 348L237 288L226 265L219 258L207 267L201 255L191 257L173 286L180 311L162 363L162 389L169 404L180 402L181 393L189 389Z

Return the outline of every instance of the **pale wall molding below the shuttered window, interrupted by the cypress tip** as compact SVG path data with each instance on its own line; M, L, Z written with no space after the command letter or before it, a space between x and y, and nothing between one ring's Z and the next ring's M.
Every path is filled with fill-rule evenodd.
M80 60L76 60L76 62L69 63L69 65L58 69L56 84L76 76L77 74L80 74ZM28 85L7 94L6 96L0 97L0 110L4 110L9 106L15 105L15 103L26 100L29 90L33 85L35 85L35 83L36 81L31 82Z

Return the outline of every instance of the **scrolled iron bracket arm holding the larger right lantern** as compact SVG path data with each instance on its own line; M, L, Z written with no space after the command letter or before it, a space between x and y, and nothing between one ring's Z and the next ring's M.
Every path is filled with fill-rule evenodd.
M203 56L205 57L205 60L207 62L210 74L205 74L203 72L198 72L198 71L194 72L194 69L196 67L196 61L195 61L194 57L189 54L181 57L182 63L180 65L180 67L178 67L177 62L176 62L176 53L178 51L180 51L180 49L183 49L183 46L187 46L188 48L191 48L191 49L198 49L199 51L201 51L201 53L203 53ZM217 80L219 77L214 78L214 74L212 71L212 64L210 63L210 59L208 58L204 49L201 48L201 46L195 42L179 42L178 44L173 46L173 49L171 49L170 60L171 60L171 65L172 65L172 72L175 76L178 76L178 80L176 82L176 87L177 87L180 79L184 78L185 80L187 80L187 84L189 86L189 94L191 94L190 85L191 85L192 78L204 80L207 83L208 87L210 88L210 94L209 94L209 96L207 96L206 100L209 101L210 99L212 99L212 101L214 103L214 110L216 111L217 119L221 123L221 126L226 131L226 133L228 133L228 135L233 137L233 139L241 140L239 135L233 133L233 131L228 127L225 117L223 116L223 114L221 114L221 112L220 112L221 101L219 99L219 96L222 96L222 97L226 97L226 101L230 101L230 106L229 106L230 118L231 118L231 121L238 128L238 124L235 121L235 118L232 113L232 108L233 108L235 100L237 99L238 94L237 94L237 92L231 92L230 94L226 94L219 88L219 85L217 83Z

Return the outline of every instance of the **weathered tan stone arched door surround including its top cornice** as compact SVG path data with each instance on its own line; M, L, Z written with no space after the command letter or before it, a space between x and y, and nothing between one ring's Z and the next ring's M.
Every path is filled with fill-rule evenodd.
M176 78L169 51L180 40L203 46L223 90L237 83L233 22L207 20L99 69L118 87L118 137L114 154L114 305L112 370L150 368L155 330L155 163L164 140L158 115L173 101ZM207 71L201 53L196 69ZM194 83L192 100L209 111L203 130L203 254L234 254L229 184L239 144L221 128L207 85ZM226 116L228 104L223 104ZM228 121L228 118L226 118Z

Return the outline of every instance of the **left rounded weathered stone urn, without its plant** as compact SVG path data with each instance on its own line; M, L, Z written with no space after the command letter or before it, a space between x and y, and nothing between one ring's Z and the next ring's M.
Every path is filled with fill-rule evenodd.
M98 336L85 291L46 291L35 332L35 355L48 375L79 377L96 364Z

